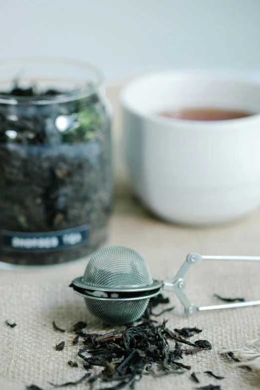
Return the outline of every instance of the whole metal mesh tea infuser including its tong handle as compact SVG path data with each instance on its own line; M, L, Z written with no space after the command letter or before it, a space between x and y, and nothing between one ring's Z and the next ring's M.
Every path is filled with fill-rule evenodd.
M260 305L260 300L212 306L195 306L191 303L183 291L184 276L192 264L202 260L260 261L260 257L204 256L190 253L173 278L158 281L152 279L148 264L136 252L124 247L109 247L96 252L84 275L74 279L70 286L84 297L91 314L115 325L127 324L140 318L149 299L158 295L162 288L175 292L188 314Z

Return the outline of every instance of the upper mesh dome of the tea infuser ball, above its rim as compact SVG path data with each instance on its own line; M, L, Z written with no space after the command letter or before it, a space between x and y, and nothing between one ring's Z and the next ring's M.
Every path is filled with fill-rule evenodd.
M146 261L135 251L109 247L96 252L90 259L83 281L96 287L145 287L152 283Z

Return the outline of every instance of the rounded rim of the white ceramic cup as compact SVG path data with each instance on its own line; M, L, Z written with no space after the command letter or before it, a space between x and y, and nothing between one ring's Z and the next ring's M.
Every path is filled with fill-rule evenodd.
M130 82L128 82L121 90L120 92L120 103L123 108L126 108L131 113L152 121L153 123L157 123L159 125L178 125L178 127L203 127L203 126L211 126L211 127L219 127L223 124L225 125L244 125L244 123L247 123L252 120L260 120L260 113L252 114L248 117L244 118L236 118L236 119L226 119L226 120L218 120L218 121L195 121L195 120L187 120L187 119L180 119L180 118L168 118L163 117L160 115L157 115L156 113L146 113L145 111L138 110L134 108L129 102L127 101L127 94L129 93L130 89L134 87L135 85L138 85L140 82L143 82L145 80L152 79L154 77L175 77L176 79L178 77L185 77L186 79L192 79L192 80L214 80L214 81L227 81L227 82L233 82L233 83L240 83L248 86L258 86L260 89L260 81L258 80L252 80L250 78L247 78L246 76L240 75L240 76L234 76L231 73L227 72L214 72L214 71L204 71L204 70L168 70L168 71L162 71L162 72L149 72L144 75L135 77Z

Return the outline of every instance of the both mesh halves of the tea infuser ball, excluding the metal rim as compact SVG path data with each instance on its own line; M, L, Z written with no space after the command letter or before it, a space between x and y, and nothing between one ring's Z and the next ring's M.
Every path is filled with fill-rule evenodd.
M91 286L111 288L145 287L152 284L146 261L131 249L105 248L90 259L83 281ZM95 317L109 324L123 325L137 320L146 309L149 298L111 301L85 298Z

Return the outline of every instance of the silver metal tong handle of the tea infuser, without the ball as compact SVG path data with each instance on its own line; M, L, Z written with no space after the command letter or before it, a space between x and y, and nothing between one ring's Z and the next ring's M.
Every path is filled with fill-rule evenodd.
M212 306L195 306L193 303L191 303L187 295L183 292L183 288L185 286L184 276L192 264L202 260L260 261L260 256L203 256L197 253L188 254L186 261L181 266L176 276L173 279L166 279L163 281L163 289L168 291L173 291L176 293L179 300L184 305L186 313L193 314L203 310L229 309L233 307L260 305L260 300L249 301L249 302L227 303L223 305L212 305Z

